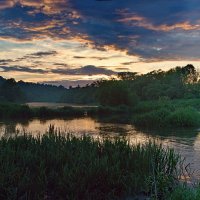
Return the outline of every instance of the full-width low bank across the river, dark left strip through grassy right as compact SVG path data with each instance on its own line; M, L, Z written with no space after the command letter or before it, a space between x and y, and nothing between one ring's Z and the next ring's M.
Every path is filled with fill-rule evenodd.
M45 104L44 104L45 105ZM199 127L200 99L141 101L134 106L60 106L29 107L19 104L0 104L0 119L67 118L83 117L108 118L121 116L137 127Z

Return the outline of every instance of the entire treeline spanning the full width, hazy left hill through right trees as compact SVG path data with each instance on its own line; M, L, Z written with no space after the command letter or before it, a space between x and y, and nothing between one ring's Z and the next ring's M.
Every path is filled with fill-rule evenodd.
M99 80L85 87L69 89L0 77L1 102L43 101L132 106L145 100L199 97L199 73L193 65L147 74L121 72L115 79Z

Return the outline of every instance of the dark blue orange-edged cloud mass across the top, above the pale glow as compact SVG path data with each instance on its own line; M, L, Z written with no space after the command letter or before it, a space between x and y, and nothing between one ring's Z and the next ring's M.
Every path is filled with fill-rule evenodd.
M4 0L0 36L81 38L143 60L197 59L199 13L198 0Z

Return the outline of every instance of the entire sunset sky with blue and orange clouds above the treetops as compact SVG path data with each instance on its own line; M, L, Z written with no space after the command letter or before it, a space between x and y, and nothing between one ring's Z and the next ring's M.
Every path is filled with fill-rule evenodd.
M84 85L200 64L199 0L0 0L0 76Z

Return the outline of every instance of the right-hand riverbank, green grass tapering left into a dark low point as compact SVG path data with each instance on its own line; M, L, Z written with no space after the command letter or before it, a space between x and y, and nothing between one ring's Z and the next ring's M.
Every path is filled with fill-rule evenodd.
M120 115L139 128L200 127L200 99L140 101L134 106L99 106L89 114ZM127 119L126 119L127 121Z

